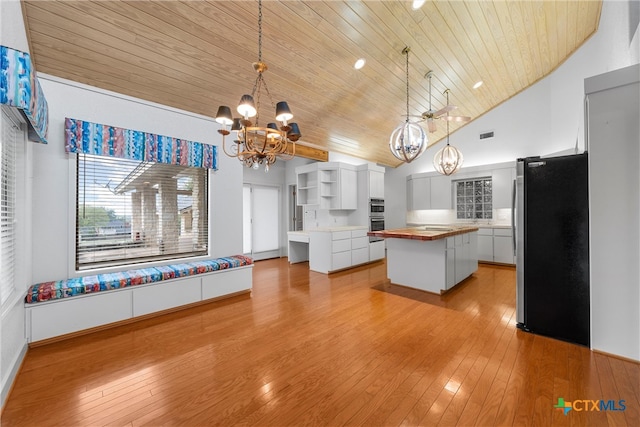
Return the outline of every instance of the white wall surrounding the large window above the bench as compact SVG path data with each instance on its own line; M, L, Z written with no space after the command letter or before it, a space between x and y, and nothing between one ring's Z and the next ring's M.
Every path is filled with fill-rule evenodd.
M242 165L222 153L211 118L40 74L49 102L49 144L34 150L33 280L76 275L74 268L75 156L64 150L64 119L218 145L218 171L210 172L210 254L242 253ZM52 226L55 224L55 227Z

